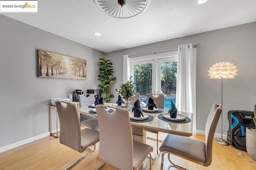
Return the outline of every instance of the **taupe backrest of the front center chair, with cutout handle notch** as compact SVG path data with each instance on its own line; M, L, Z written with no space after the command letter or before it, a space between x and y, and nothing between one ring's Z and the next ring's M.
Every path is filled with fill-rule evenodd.
M118 169L133 169L132 129L127 109L116 107L108 113L96 106L100 129L99 158Z

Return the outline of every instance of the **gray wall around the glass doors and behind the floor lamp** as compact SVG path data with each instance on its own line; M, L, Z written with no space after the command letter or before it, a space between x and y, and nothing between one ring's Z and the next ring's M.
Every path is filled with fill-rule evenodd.
M206 119L213 103L220 103L221 82L207 76L209 67L218 62L238 65L235 79L223 80L223 134L228 131L229 110L250 110L256 103L256 22L199 33L177 39L107 53L114 63L116 83L122 84L122 57L177 48L180 44L200 43L197 48L197 129L205 131ZM115 92L114 95L117 95ZM220 133L220 123L216 130Z

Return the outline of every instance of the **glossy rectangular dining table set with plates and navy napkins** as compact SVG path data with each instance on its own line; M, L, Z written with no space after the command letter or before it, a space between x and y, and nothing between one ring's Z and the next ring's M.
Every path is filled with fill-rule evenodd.
M114 104L114 103L105 103L104 105L106 105L106 107L109 106L109 108L112 109L113 112L115 111L114 107L119 107L117 106L117 104ZM143 110L145 105L141 105L141 107L142 107L141 110L143 114L145 114L145 111ZM94 109L94 112L92 111L92 109ZM131 111L131 108L129 110ZM159 115L168 113L169 111L168 109L159 109L158 112L160 112L160 110L162 110L161 113L146 112L146 114L152 116L151 121L146 121L146 122L137 121L137 120L134 121L130 116L132 133L133 133L132 136L134 140L146 143L146 131L150 131L152 133L159 133L159 132L170 133L170 134L182 135L186 137L192 136L193 116L194 116L193 113L177 111L177 114L180 114L180 115L183 115L184 117L189 118L190 121L188 123L183 123L182 121L175 121L174 123L174 122L170 122L169 120L160 119L158 117ZM77 111L84 115L97 117L97 114L95 112L95 106L94 107L92 106L77 107ZM155 158L156 158L156 155L152 153L152 163L154 162ZM138 170L148 170L150 167L149 159L150 158L148 156L144 164L142 164L142 166Z

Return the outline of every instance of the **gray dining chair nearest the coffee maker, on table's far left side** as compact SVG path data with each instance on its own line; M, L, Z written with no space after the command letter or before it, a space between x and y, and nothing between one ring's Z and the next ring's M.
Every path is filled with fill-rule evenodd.
M87 96L87 97L86 97ZM81 94L79 95L79 105L90 106L94 104L94 94ZM91 129L99 130L98 119L97 117L91 117L88 115L80 114L80 121L82 126L89 127Z

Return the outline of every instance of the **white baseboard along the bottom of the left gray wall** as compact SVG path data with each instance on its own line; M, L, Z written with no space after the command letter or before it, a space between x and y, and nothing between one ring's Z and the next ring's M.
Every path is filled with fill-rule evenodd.
M55 131L56 131L56 130L55 130ZM1 152L4 152L4 151L6 151L6 150L10 150L10 149L19 147L19 146L21 146L21 145L24 145L24 144L33 142L33 141L36 141L36 140L38 140L38 139L47 137L47 136L49 136L49 135L50 135L50 132L46 132L46 133L44 133L44 134L42 134L42 135L38 135L38 136L29 138L29 139L25 139L25 140L23 140L23 141L19 141L19 142L16 142L16 143L7 145L7 146L5 146L5 147L0 148L0 153L1 153Z

